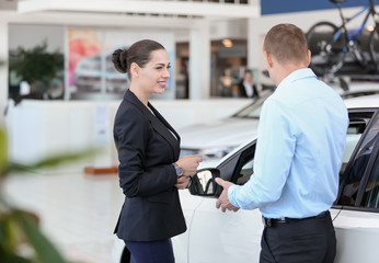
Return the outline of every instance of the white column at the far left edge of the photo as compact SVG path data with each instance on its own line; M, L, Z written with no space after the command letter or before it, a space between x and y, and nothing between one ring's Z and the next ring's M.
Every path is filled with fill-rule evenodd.
M8 101L8 19L0 11L0 119L3 118Z

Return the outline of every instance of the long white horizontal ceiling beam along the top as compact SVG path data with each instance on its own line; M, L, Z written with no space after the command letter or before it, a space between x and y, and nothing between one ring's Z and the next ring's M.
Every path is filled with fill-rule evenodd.
M259 1L256 1L259 2ZM156 16L249 19L259 18L259 4L207 1L146 0L19 0L19 13L34 12L126 13Z

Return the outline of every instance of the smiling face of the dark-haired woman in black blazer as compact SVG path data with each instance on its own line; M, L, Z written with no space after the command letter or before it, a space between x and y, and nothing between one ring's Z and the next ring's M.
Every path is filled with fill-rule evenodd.
M145 92L161 94L164 92L170 78L170 60L165 49L151 53L151 60L139 68L138 85Z

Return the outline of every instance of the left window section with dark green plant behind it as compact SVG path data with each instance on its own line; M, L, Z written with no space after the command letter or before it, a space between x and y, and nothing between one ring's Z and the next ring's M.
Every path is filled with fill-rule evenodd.
M9 98L61 100L65 93L64 27L9 25Z

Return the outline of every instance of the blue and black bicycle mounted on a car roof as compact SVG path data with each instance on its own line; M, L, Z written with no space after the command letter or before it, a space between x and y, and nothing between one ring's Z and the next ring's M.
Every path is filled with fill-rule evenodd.
M307 33L309 49L312 54L310 67L317 75L335 75L351 61L358 62L367 73L379 72L379 13L374 0L351 18L345 18L341 3L346 0L330 0L340 12L341 25L328 21L314 24ZM365 14L357 28L347 24Z

